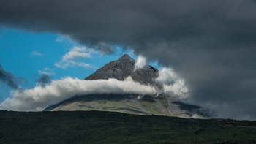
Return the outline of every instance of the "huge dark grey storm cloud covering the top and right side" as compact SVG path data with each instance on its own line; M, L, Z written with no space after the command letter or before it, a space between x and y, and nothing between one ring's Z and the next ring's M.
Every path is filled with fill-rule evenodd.
M255 1L0 1L0 23L68 35L103 54L132 48L173 67L194 105L256 119Z

